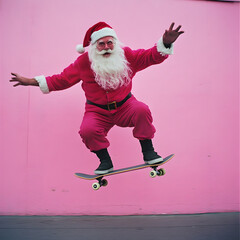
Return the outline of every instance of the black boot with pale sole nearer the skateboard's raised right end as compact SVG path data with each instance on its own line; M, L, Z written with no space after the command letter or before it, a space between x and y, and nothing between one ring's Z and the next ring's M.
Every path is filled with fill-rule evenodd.
M154 151L151 139L139 141L142 147L143 159L146 164L154 164L163 161L163 158Z

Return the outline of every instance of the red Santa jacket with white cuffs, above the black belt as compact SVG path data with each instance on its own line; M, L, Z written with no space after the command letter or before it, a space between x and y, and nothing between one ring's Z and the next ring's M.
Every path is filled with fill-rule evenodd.
M147 50L131 50L129 47L124 47L124 52L132 71L131 79L138 71L151 65L159 64L168 57L168 54L164 53L164 51L159 52L157 45ZM108 102L113 101L119 102L131 91L132 81L127 86L119 87L116 90L109 91L101 88L95 81L94 72L90 65L91 63L89 61L88 53L84 53L60 74L46 77L45 85L47 84L47 86L44 86L44 83L41 81L41 77L43 76L36 77L36 80L39 82L40 88L45 93L63 90L82 82L82 88L85 92L86 98L97 104L107 104Z

